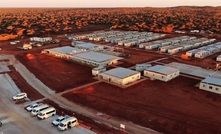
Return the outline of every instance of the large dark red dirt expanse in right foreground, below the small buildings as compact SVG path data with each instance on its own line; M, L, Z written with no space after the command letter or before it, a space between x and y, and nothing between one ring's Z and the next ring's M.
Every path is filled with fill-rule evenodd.
M218 133L221 96L199 90L199 82L180 76L167 83L146 80L127 89L99 83L63 96L162 133Z

